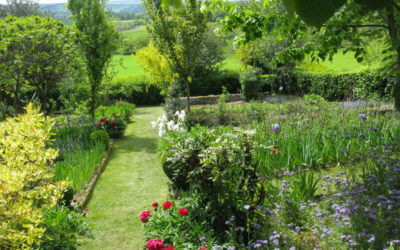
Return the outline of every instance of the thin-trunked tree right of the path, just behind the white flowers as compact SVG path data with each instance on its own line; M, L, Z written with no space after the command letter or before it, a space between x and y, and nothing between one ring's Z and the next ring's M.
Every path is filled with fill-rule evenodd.
M156 0L145 0L143 5L150 16L149 31L154 45L165 56L177 80L185 86L187 111L190 112L190 82L201 60L207 14L200 10L199 0L188 0L176 7Z

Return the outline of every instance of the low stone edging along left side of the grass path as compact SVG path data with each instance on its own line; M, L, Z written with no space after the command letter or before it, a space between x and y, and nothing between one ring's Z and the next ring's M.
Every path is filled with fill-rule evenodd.
M89 200L92 197L96 183L100 178L101 174L103 173L103 171L105 170L108 160L110 159L110 156L113 151L114 151L114 144L110 142L107 151L105 152L103 158L101 159L100 163L97 165L95 171L93 172L92 178L88 181L88 183L86 183L83 190L74 195L74 198L76 199L76 202L78 203L79 206L86 207L87 204L89 203Z

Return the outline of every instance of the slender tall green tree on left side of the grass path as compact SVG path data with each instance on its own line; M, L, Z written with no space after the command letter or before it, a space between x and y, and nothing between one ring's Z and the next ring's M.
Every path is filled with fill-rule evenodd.
M88 72L90 114L93 118L98 105L98 91L119 40L119 34L105 12L105 3L105 0L68 1Z

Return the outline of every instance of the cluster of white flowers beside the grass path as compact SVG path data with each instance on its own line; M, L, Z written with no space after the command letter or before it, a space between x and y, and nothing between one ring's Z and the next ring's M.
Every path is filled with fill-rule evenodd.
M176 111L174 120L168 121L166 115L159 117L156 121L153 121L151 125L154 127L158 126L158 136L164 136L168 131L183 131L185 126L186 113L185 110Z

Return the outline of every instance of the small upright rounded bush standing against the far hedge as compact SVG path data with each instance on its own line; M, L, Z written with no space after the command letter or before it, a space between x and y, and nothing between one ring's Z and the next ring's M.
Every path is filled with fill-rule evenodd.
M259 98L261 90L260 70L257 68L249 68L240 75L240 84L242 85L242 93L247 101Z

